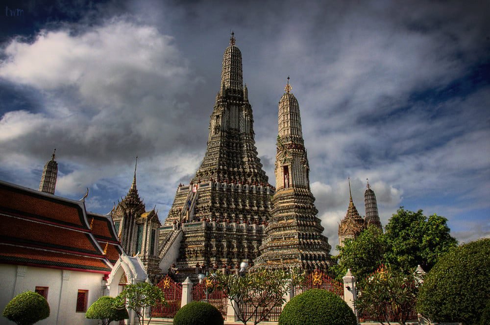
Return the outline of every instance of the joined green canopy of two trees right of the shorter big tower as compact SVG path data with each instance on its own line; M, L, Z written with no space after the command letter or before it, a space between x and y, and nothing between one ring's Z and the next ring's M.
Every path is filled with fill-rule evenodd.
M369 227L356 239L346 240L343 247L337 246L338 265L331 270L338 280L347 269L357 279L365 279L381 264L405 271L420 264L429 271L441 255L457 246L446 222L437 214L426 217L422 210L412 212L401 207L389 220L385 233Z

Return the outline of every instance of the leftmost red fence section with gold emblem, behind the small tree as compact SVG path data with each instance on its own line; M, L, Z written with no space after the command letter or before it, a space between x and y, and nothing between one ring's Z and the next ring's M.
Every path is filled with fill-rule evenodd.
M180 309L182 284L166 276L156 286L165 294L165 301L168 305L158 303L151 307L151 317L173 318L177 310Z

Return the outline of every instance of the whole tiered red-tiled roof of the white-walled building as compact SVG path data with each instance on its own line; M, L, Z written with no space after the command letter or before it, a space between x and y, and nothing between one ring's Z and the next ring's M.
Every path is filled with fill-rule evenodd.
M83 202L2 181L0 195L6 198L0 201L0 263L111 271L120 246L105 216L88 214Z

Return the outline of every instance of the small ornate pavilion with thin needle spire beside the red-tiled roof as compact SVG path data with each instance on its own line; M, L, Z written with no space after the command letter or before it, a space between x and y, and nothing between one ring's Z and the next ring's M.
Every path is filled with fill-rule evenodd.
M124 252L130 256L139 256L149 275L160 274L158 238L161 223L155 209L146 211L140 199L136 188L136 164L128 193L111 212Z

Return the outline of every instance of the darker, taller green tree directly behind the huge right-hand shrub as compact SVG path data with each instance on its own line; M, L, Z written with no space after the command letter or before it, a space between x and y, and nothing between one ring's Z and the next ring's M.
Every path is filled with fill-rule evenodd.
M426 217L422 210L412 212L400 207L385 227L385 261L404 270L418 264L430 270L441 255L458 244L446 222L437 214Z

